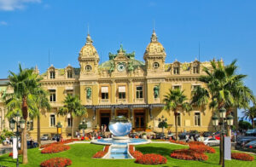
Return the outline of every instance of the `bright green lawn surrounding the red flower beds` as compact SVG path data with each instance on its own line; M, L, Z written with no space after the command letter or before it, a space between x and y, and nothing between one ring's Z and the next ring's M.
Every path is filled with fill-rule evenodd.
M113 159L96 159L91 158L94 153L97 151L102 150L103 146L100 145L93 145L93 144L74 144L70 145L71 149L62 152L62 153L54 153L54 154L42 154L37 148L29 149L28 150L28 160L29 164L20 165L20 166L32 166L37 167L39 164L48 158L53 157L64 157L64 158L71 158L73 161L72 166L104 166L104 167L123 167L123 166L151 166L145 164L135 164L134 160L113 160ZM205 162L199 161L188 161L188 160L179 160L170 157L170 153L173 150L184 148L184 146L179 145L171 145L171 144L147 144L147 145L140 145L136 147L137 150L143 153L160 153L167 158L167 164L163 165L152 165L152 166L189 166L189 167L209 167L209 166L218 166L218 150L215 154L207 154L209 159ZM20 159L21 162L21 159ZM0 164L5 166L15 166L15 160L9 158L8 155L0 156ZM226 166L230 167L250 167L256 166L256 161L253 162L245 162L245 161L238 161L238 160L231 160L226 161Z

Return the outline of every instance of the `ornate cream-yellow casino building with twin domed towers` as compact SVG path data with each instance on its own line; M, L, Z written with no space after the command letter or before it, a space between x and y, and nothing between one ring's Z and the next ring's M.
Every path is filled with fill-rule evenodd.
M79 68L66 66L55 68L49 66L47 72L41 74L42 85L49 91L50 111L41 112L41 133L53 135L56 124L61 122L62 135L71 135L70 115L59 116L57 111L63 105L68 94L78 95L87 108L87 117L76 117L73 121L74 131L78 131L79 123L85 118L87 130L108 126L114 116L123 115L131 120L136 131L158 128L159 118L166 118L169 129L174 132L174 114L163 109L164 95L169 89L183 89L184 94L191 98L195 86L205 87L198 81L203 75L202 67L210 66L209 62L179 62L166 63L166 51L153 32L148 43L143 60L136 60L135 53L126 53L120 46L117 53L109 53L109 60L99 64L99 55L88 34L86 43L79 52ZM38 72L38 69L36 68ZM8 80L0 81L0 89L7 89ZM3 101L0 101L0 130L8 128L8 120ZM234 109L235 124L237 110ZM213 130L212 110L208 107L194 107L191 112L179 109L178 131ZM37 119L30 120L32 125L29 133L37 136ZM108 130L108 129L107 129Z

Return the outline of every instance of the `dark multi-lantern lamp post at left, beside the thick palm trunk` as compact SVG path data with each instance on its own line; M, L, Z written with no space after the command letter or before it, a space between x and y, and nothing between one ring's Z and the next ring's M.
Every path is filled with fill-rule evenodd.
M23 118L20 119L20 113L19 112L15 116L16 116L16 121L15 121L14 118L12 118L10 120L9 126L10 126L11 130L14 130L15 129L15 124L16 124L16 139L17 139L17 142L16 142L16 148L17 148L16 167L18 167L19 166L19 140L18 140L18 138L19 138L19 128L22 129L22 130L25 128L25 120ZM19 121L19 119L20 119L20 121ZM13 147L15 147L15 146L13 146Z

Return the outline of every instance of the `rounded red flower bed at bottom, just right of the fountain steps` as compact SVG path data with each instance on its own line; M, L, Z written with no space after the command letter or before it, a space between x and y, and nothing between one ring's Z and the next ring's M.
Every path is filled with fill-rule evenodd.
M135 162L137 164L166 164L167 159L160 154L147 153L138 157Z

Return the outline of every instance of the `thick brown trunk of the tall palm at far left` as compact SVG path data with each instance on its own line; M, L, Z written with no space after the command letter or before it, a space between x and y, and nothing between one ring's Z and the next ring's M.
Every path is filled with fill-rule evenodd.
M22 153L22 164L27 164L27 143L26 143L26 121L27 121L27 101L26 96L22 98L22 116L25 119L25 128L23 130L23 153Z

